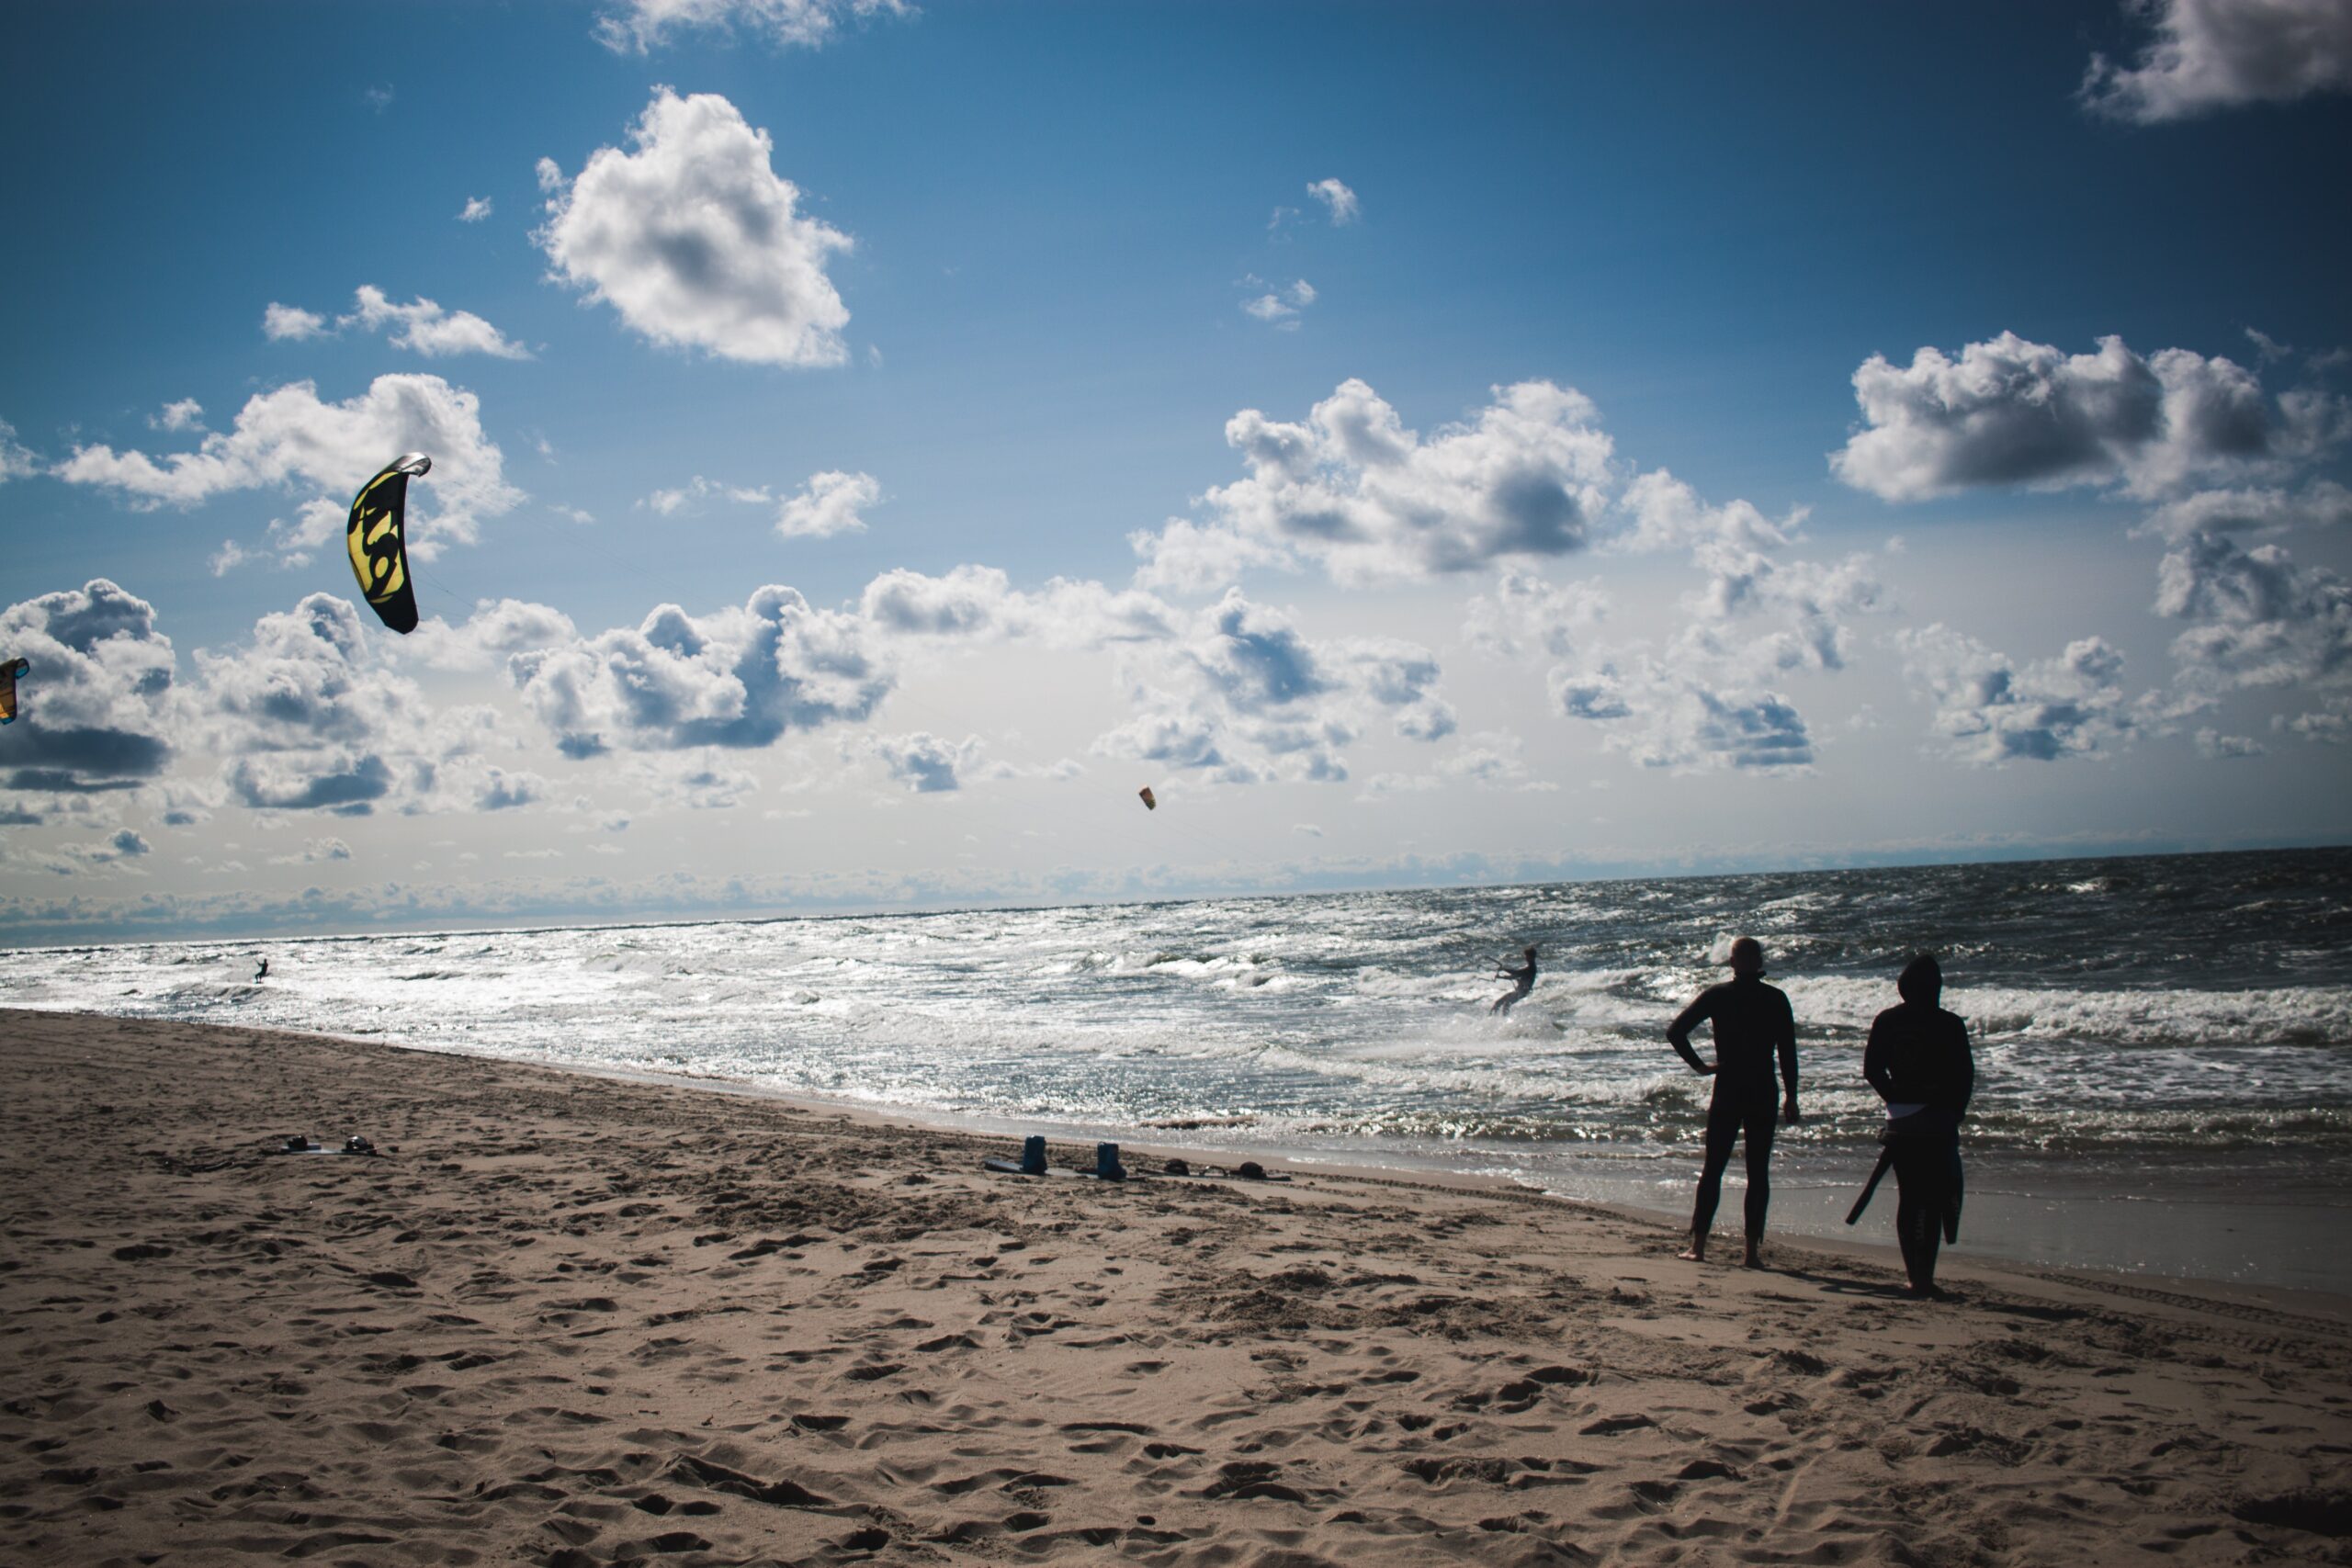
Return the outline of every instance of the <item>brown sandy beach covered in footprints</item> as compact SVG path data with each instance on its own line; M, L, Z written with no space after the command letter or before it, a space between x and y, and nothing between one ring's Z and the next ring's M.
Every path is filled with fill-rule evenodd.
M2352 1561L2333 1298L54 1013L0 1107L7 1563Z

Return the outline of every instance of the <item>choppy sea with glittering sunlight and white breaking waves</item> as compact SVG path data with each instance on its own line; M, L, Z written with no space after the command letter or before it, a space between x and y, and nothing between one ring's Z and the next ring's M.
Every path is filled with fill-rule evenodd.
M0 1006L1686 1218L1708 1079L1665 1023L1736 936L1799 1030L1776 1229L1889 1239L1891 1182L1844 1225L1882 1126L1860 1053L1936 952L1978 1067L1957 1253L2352 1293L2352 849L49 947L0 961ZM1498 1016L1529 943L1538 983ZM1738 1187L1733 1161L1719 1225Z

